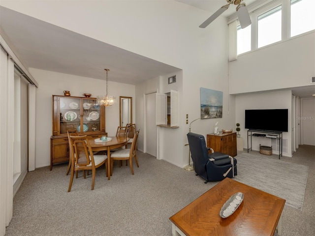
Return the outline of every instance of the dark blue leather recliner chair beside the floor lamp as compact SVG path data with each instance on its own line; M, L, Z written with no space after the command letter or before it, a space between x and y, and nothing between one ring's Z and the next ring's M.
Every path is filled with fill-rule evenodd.
M237 175L237 160L221 152L212 152L206 147L205 137L200 134L188 133L191 159L196 175L208 181L220 181L225 177ZM212 149L213 151L213 149Z

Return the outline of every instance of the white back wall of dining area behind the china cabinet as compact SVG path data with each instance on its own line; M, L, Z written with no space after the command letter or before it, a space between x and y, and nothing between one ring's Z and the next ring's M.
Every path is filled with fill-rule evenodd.
M50 165L50 137L52 135L52 95L63 95L69 90L72 96L82 97L82 93L104 95L106 81L52 71L30 68L30 73L38 82L36 90L36 168ZM116 96L118 101L106 108L106 131L115 136L119 126L119 96L135 97L135 86L108 82L108 93ZM132 114L136 121L135 99L132 99Z

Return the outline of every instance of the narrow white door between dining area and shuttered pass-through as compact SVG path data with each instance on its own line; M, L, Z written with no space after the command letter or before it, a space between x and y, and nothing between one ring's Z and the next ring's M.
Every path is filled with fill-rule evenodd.
M156 93L146 94L146 152L157 157Z

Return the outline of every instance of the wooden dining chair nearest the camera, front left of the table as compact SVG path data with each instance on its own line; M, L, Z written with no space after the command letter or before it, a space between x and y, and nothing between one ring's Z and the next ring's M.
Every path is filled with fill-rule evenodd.
M78 177L78 171L83 170L83 177L85 176L85 170L92 171L92 190L94 189L96 168L105 165L106 177L108 176L106 169L107 155L94 155L88 138L84 136L68 136L70 142L70 159L71 159L71 177L69 182L68 192L71 191L74 172L76 172L76 178Z

